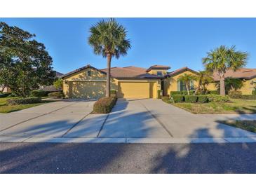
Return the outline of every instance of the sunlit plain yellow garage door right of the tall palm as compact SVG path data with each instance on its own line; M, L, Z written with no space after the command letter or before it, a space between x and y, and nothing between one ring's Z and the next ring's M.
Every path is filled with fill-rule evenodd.
M153 83L119 82L119 98L151 98Z

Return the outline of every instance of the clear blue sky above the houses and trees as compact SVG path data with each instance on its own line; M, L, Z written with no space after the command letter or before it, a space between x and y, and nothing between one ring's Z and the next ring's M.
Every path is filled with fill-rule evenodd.
M100 18L0 18L36 34L53 57L53 67L67 73L86 64L98 69L106 60L88 45L89 28ZM248 68L256 67L256 18L117 18L128 30L132 48L112 60L112 67L164 64L203 69L201 58L220 45L236 45L249 53Z

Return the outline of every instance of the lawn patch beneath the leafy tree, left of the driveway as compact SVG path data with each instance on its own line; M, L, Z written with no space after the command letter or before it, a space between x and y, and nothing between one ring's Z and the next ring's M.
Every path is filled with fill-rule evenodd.
M15 97L4 97L4 98L0 98L0 113L10 113L13 111L19 111L22 109L27 109L30 107L35 107L38 106L40 104L45 104L48 103L50 101L42 101L40 103L34 103L34 104L18 104L18 105L6 105L6 100L8 99L13 99Z

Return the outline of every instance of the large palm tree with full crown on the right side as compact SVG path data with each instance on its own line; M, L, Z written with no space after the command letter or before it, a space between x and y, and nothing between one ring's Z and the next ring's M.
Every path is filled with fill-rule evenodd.
M244 67L247 57L247 53L236 51L235 46L231 46L231 48L220 46L208 52L207 56L203 58L203 64L205 64L206 70L216 71L220 77L220 95L225 95L225 73L227 69L236 71Z

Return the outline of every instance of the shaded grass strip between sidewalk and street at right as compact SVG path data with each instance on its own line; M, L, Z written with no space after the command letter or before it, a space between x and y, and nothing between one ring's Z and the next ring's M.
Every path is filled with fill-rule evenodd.
M228 121L220 121L220 123L231 125L231 126L234 126L236 128L241 128L243 130L248 130L250 132L256 132L256 120L254 120L254 121L228 120Z

